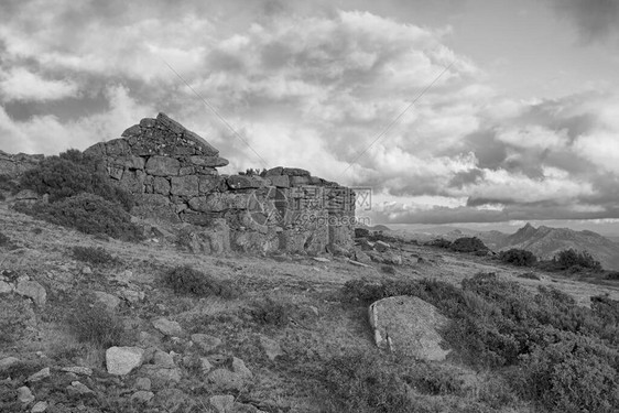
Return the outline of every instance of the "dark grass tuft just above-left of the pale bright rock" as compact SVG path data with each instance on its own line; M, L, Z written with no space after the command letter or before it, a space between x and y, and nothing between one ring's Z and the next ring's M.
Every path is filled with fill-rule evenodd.
M79 341L101 348L119 345L124 335L122 320L118 316L108 312L102 304L90 304L85 298L74 303L66 324Z

